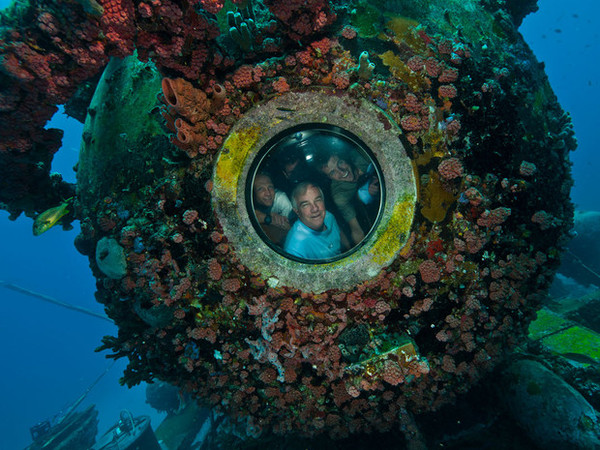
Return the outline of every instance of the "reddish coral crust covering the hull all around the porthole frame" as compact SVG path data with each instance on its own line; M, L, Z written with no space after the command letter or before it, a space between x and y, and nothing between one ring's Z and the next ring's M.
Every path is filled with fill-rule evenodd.
M118 173L114 196L87 195L78 238L119 326L103 348L129 358L126 383L160 378L249 436L343 437L410 428L409 413L452 401L518 343L571 222L575 140L553 96L533 93L545 77L514 27L483 11L476 27L472 14L448 13L450 26L429 10L417 21L358 5L369 16L353 18L325 0L267 0L252 51L240 55L215 20L223 1L98 4L90 12L59 0L3 15L0 204L32 212L41 203L32 199L60 192L49 176L60 133L43 128L55 104L110 56L136 49L156 63L174 145L151 149L161 170L140 165L143 173ZM354 23L337 22L348 17ZM382 123L398 124L419 194L394 262L319 294L249 270L211 203L231 127L262 102L307 89L367 99ZM285 121L293 109L281 112ZM146 143L125 151L148 156ZM148 181L130 192L132 176ZM102 266L107 242L114 271Z

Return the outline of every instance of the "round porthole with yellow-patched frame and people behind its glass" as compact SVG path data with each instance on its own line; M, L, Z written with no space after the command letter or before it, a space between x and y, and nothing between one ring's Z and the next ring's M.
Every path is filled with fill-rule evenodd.
M408 241L416 204L401 130L364 99L290 92L223 143L213 202L239 263L270 286L344 289Z

